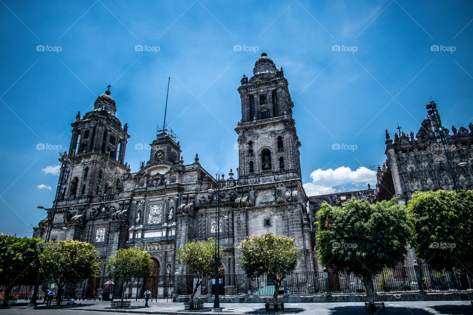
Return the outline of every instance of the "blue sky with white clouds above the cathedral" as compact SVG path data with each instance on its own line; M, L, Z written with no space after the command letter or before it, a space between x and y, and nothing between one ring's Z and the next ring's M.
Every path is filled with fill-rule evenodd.
M167 121L184 162L198 153L228 174L236 89L266 52L289 81L309 194L374 186L384 130L415 133L430 96L444 126L473 121L471 1L0 2L3 233L31 236L45 217L36 206L54 199L57 149L109 83L132 171L149 158L136 148L162 124L170 76Z

